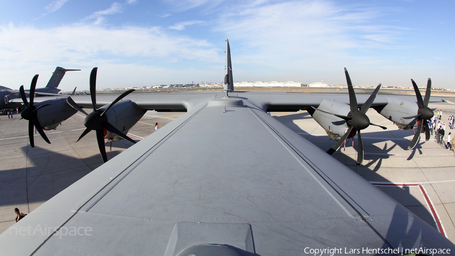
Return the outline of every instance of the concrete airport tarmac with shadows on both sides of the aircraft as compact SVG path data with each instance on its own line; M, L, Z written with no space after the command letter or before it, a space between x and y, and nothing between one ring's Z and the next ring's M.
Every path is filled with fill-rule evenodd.
M430 104L429 107L442 109L441 121L446 123L448 115L455 115L453 103ZM164 126L181 114L148 111L129 135L139 141L155 131L156 122ZM306 111L272 112L271 115L323 150L335 143ZM371 122L386 126L387 130L370 126L362 132L363 164L355 163L356 138L354 147L350 140L345 149L341 148L333 156L455 242L454 153L435 142L434 135L424 143L424 134L416 148L408 150L414 136L412 130L398 130L373 109L367 115ZM13 119L0 116L0 233L15 223L15 207L28 214L103 163L95 132L75 143L85 130L83 120L83 115L76 114L57 130L46 131L50 145L35 134L35 147L31 148L28 121L20 120L20 115L14 115ZM446 130L446 134L453 132L448 124ZM107 143L108 159L131 144L124 140L113 142L109 151L110 143ZM175 157L178 154L176 151Z

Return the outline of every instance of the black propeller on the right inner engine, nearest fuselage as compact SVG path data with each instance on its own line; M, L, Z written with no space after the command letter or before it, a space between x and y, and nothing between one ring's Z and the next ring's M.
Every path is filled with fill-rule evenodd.
M333 145L332 148L327 150L327 153L332 155L341 147L341 145L343 144L343 142L347 139L347 137L349 135L353 136L353 135L357 134L357 137L358 137L357 164L361 164L363 161L363 144L362 144L362 137L360 135L360 130L366 129L370 125L379 126L384 130L387 129L387 127L371 123L370 119L365 114L367 112L367 110L370 108L373 101L375 100L376 95L378 94L379 89L381 88L381 84L379 84L376 87L375 91L371 94L370 98L368 98L368 100L362 105L362 107L359 110L358 105L357 105L357 98L355 97L355 93L354 93L354 88L352 87L351 78L349 77L349 73L346 68L344 68L344 73L346 75L346 82L348 84L349 105L350 105L351 111L348 113L347 116L337 115L337 114L332 114L332 113L329 113L329 114L335 115L337 117L340 117L340 118L346 120L346 124L349 127L349 129L341 137L341 139L338 140L337 143L335 143L335 145ZM328 113L328 112L326 112L326 113ZM351 134L351 133L353 133L353 134Z

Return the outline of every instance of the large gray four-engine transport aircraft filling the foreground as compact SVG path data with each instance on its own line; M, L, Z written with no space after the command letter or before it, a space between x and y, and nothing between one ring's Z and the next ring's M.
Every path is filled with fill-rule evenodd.
M369 107L388 111L394 122L410 117L403 118L406 125L424 125L429 91L417 103L410 97L376 97L379 87L370 97L241 92L234 91L228 41L225 63L224 93L128 91L118 97L30 99L35 114L29 119L40 123L44 110L49 116L56 112L60 121L68 106L92 108L81 137L95 130L102 155L104 138L126 137L147 110L187 113L109 161L103 156L105 164L1 234L0 255L455 251L435 228L267 114L306 109L325 118L323 123L338 118L331 125L346 125L348 131L326 130L340 137L356 133L360 142L360 130L370 124ZM96 72L90 75L92 92ZM397 102L402 109L394 108ZM171 159L175 150L182 153Z

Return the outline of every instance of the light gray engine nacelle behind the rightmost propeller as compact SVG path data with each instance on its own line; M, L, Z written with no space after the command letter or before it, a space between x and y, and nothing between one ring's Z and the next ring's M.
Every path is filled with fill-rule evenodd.
M416 102L392 98L389 103L381 108L375 108L382 116L391 120L400 129L408 130L417 126L417 120L403 119L403 117L415 116L419 111Z

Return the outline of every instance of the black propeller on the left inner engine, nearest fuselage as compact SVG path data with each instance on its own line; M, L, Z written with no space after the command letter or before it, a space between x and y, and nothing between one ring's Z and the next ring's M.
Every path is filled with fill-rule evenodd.
M71 107L73 107L76 110L81 111L82 113L84 113L86 115L86 117L84 119L84 125L85 125L86 129L80 135L79 139L77 139L76 142L78 142L80 139L82 139L90 131L95 130L97 132L97 141L98 141L98 147L100 148L101 157L103 158L104 162L107 162L108 159L106 156L106 147L104 144L104 130L107 130L127 141L136 143L131 138L129 138L128 136L126 136L122 132L120 132L116 127L114 127L114 125L110 124L108 122L107 115L106 115L106 112L115 103L117 103L118 101L123 99L126 95L130 94L134 90L128 90L128 91L122 93L104 111L103 111L103 109L97 109L97 97L96 97L97 71L98 71L98 68L95 67L92 69L92 72L90 73L90 97L92 97L93 112L87 114L79 106L77 106L77 104L70 97L67 98L67 102Z

